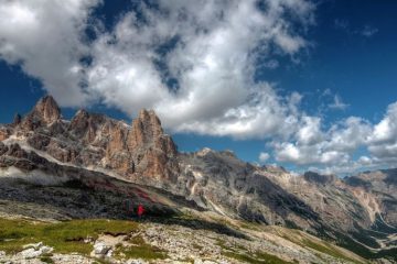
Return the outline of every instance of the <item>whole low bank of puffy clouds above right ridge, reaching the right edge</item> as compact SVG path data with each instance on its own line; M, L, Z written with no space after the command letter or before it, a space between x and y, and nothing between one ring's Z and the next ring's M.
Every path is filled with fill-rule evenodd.
M302 117L301 125L288 141L271 143L276 161L309 166L326 174L395 166L397 102L388 106L377 123L350 117L325 130L322 122L320 118ZM358 151L365 154L355 157Z

